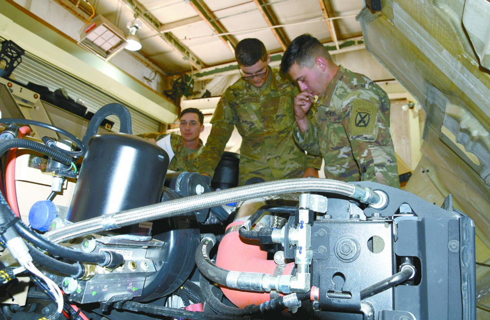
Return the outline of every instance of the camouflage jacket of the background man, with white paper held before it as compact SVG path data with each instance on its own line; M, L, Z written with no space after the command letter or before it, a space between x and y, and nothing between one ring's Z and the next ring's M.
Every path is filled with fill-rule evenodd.
M169 139L170 136L170 139ZM144 134L140 135L144 138L154 138L156 144L165 150L169 156L173 155L170 161L169 170L180 172L199 172L197 165L197 157L202 150L202 141L199 139L199 148L195 152L188 154L184 147L184 140L181 136L175 134ZM167 139L165 139L167 137ZM165 143L164 143L165 141ZM169 150L170 149L170 150Z

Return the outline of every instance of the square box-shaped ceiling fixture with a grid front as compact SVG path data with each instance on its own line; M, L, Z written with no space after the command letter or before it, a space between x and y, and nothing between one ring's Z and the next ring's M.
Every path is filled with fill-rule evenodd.
M108 61L123 50L127 42L124 33L103 16L98 15L78 32L78 45Z

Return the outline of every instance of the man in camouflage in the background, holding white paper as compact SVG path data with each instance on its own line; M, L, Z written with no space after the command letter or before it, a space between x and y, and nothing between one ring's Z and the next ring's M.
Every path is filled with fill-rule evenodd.
M184 109L180 114L180 136L149 133L140 135L156 143L170 157L169 170L198 172L197 156L202 149L199 134L204 130L204 115L195 108Z

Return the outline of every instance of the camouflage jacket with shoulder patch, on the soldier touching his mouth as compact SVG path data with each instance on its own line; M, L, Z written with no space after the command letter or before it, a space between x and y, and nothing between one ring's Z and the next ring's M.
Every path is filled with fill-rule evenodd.
M325 94L307 113L308 127L294 138L325 160L325 177L399 187L390 134L390 99L365 75L340 66Z

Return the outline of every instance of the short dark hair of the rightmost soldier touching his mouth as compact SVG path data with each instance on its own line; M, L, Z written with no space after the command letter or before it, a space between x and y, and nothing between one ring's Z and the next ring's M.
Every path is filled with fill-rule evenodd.
M319 56L327 61L332 61L330 53L317 38L308 33L302 34L296 37L284 51L281 60L281 72L288 73L294 64L301 68L308 67L311 69L315 64L315 59Z

